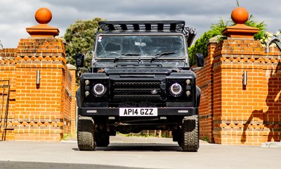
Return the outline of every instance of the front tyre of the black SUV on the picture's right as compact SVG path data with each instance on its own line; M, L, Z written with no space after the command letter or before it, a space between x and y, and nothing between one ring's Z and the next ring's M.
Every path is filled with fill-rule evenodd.
M198 115L187 116L181 126L183 151L197 151L199 149L199 120Z

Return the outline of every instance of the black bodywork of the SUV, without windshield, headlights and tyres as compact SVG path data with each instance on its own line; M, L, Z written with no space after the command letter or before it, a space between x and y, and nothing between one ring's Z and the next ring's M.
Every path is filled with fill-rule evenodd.
M185 27L181 20L166 21L104 21L99 23L98 35L182 35L185 48L192 43L196 32ZM94 45L96 47L96 44ZM84 58L83 58L84 59ZM204 65L202 58L197 61ZM89 84L85 84L88 80ZM187 84L190 80L190 84ZM93 94L95 84L103 84L103 96ZM182 94L174 96L171 84L178 83ZM190 95L185 94L190 91ZM89 92L89 96L85 95ZM78 115L90 116L96 130L107 132L139 132L141 130L176 130L188 115L198 115L200 89L196 75L188 64L188 52L184 58L126 59L93 56L91 73L83 73L77 92ZM156 117L120 117L119 108L157 108ZM126 128L126 129L125 129Z

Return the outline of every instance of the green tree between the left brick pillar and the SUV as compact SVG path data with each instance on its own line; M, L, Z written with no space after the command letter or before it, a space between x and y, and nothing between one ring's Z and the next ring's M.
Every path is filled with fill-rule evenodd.
M93 50L95 40L95 32L98 29L98 22L101 18L93 20L76 20L74 24L67 27L65 32L65 51L67 54L67 63L75 65L76 54L84 54L89 56L89 52ZM91 57L85 58L85 66L89 68Z

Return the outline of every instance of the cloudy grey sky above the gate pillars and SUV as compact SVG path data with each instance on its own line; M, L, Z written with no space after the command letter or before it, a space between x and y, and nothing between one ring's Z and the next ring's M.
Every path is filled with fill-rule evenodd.
M268 32L281 29L280 0L240 0ZM53 18L48 25L58 27L60 37L75 20L185 20L200 37L220 18L230 20L236 0L0 0L0 40L4 48L16 48L20 39L30 37L26 27L38 25L37 9L46 7Z

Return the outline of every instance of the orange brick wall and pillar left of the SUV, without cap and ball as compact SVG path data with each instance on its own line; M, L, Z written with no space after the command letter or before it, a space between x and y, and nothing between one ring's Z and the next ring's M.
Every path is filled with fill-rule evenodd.
M17 49L4 49L1 57L0 80L11 83L6 130L1 116L2 139L58 141L71 132L75 76L67 68L62 39L20 39Z

